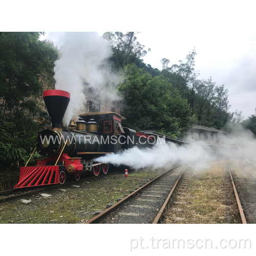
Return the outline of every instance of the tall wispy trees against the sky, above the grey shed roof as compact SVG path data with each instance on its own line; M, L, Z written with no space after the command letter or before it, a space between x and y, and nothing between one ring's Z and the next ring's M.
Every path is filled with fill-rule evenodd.
M162 74L169 78L172 90L178 90L183 99L187 99L191 108L191 115L196 115L199 124L226 129L225 124L230 121L232 114L228 112L228 90L224 85L216 86L212 78L198 79L195 72L196 50L193 49L186 56L186 62L179 61L179 65L168 68L169 60L162 59Z

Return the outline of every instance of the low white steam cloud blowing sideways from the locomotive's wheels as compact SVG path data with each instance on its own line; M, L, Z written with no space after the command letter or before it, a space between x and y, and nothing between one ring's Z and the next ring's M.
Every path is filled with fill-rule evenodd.
M95 161L111 163L116 166L125 165L134 169L140 168L169 168L174 164L186 164L191 162L207 162L218 159L248 159L256 164L254 154L256 152L256 140L253 134L245 131L242 126L236 124L232 132L226 138L224 145L209 146L206 143L189 143L181 145L168 142L156 144L152 148L140 149L138 147L124 150L118 154L110 154L98 157ZM197 165L197 168L199 165ZM202 164L200 167L205 167Z

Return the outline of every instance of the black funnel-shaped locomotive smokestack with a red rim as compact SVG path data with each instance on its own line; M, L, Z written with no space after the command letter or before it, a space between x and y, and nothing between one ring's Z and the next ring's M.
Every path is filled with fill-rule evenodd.
M53 128L61 128L61 122L70 101L70 93L61 90L44 91L44 101Z

